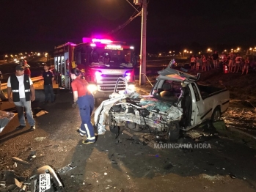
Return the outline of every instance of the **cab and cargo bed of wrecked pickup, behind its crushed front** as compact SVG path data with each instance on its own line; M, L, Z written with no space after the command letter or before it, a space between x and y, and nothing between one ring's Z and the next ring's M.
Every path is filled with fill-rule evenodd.
M219 120L227 110L230 92L225 87L198 84L197 76L167 67L159 73L150 95L159 100L180 102L183 117L180 127L184 130L200 125L205 120Z

